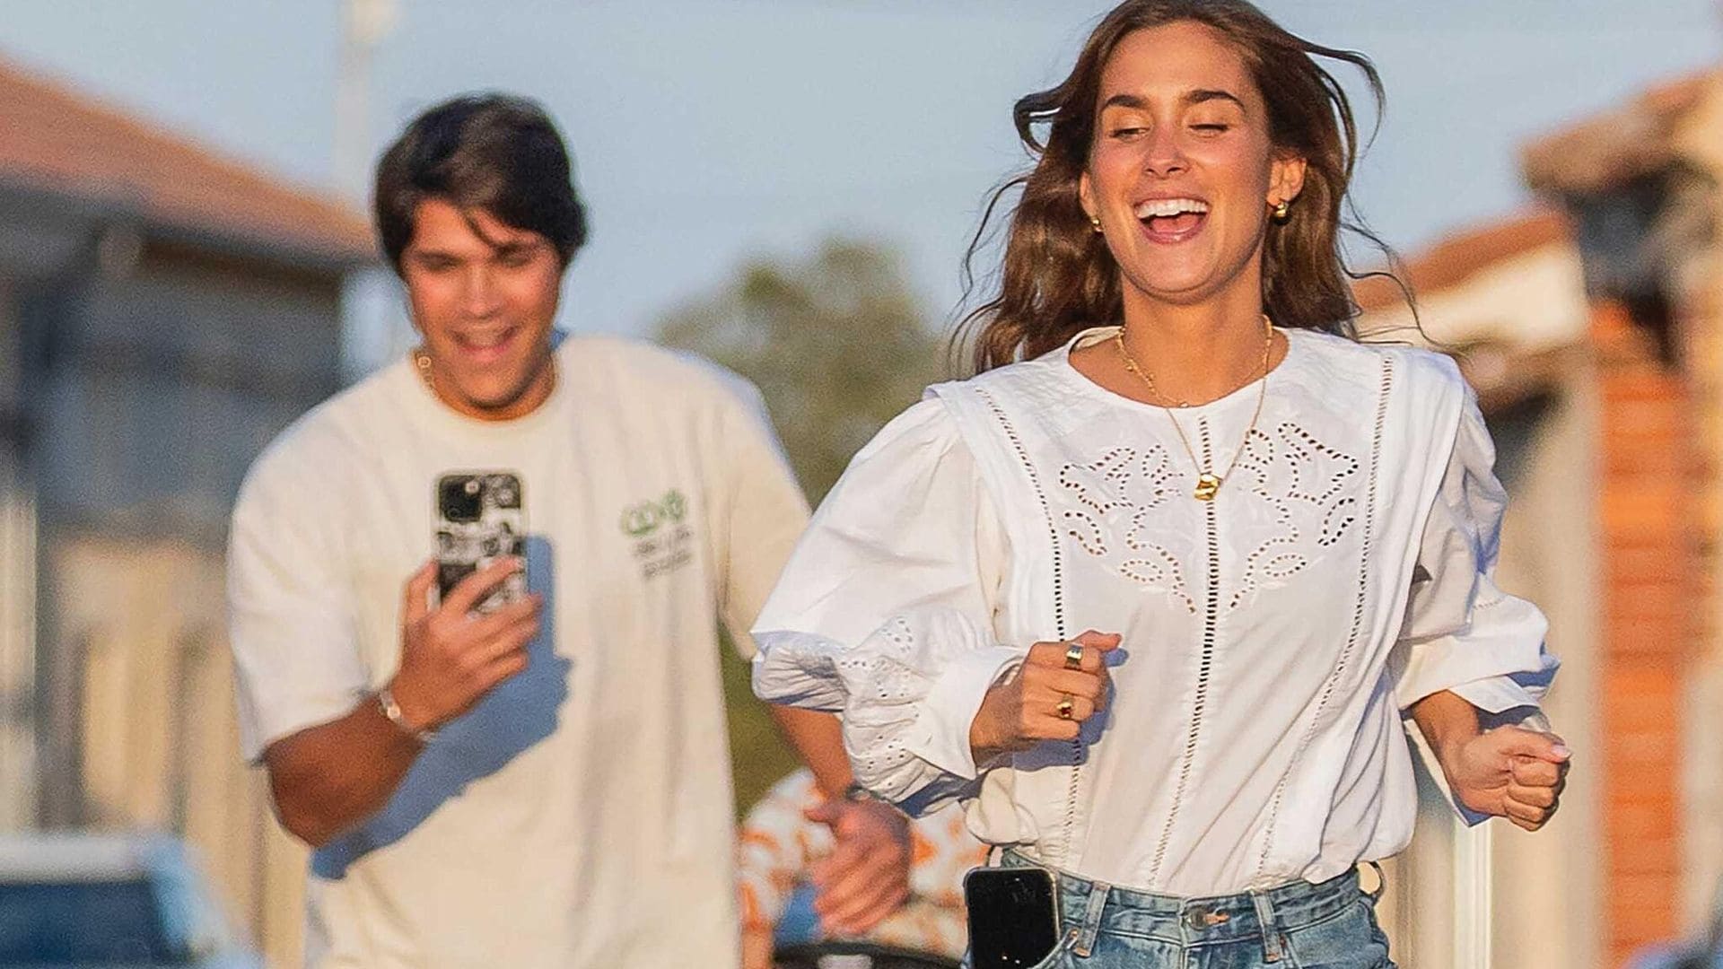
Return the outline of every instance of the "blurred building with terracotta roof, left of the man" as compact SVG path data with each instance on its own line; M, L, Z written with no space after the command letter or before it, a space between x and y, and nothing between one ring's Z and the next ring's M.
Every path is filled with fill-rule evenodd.
M0 826L184 833L289 941L302 867L238 755L226 524L264 443L338 390L372 253L346 207L0 64Z

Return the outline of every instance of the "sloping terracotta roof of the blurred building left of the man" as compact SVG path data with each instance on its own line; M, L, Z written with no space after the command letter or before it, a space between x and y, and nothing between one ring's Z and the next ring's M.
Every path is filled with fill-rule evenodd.
M0 60L0 181L324 259L376 259L364 216Z

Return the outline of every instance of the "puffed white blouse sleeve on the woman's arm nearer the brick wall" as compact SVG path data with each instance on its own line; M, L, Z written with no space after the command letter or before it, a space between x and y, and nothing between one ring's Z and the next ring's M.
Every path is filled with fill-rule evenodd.
M1484 416L1466 393L1423 529L1401 641L1389 657L1401 709L1442 690L1487 714L1535 709L1556 674L1544 648L1544 614L1496 586L1508 495L1494 464Z

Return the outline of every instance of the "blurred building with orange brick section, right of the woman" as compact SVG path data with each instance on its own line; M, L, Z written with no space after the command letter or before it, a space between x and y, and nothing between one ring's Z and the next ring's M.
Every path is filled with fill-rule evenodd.
M1539 835L1459 831L1428 798L1385 909L1413 969L1475 964L1468 936L1496 966L1621 966L1699 931L1723 871L1723 74L1542 138L1523 169L1547 209L1408 276L1496 434L1501 578L1551 616L1577 767ZM1411 324L1385 281L1359 302L1373 331Z

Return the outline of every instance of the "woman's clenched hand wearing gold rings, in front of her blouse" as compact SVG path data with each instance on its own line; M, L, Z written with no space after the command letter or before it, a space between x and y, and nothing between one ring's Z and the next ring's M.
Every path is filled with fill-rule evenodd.
M975 762L1046 740L1075 740L1082 722L1106 709L1106 653L1118 643L1117 633L1089 629L1068 643L1029 647L1023 666L987 690L970 722Z

